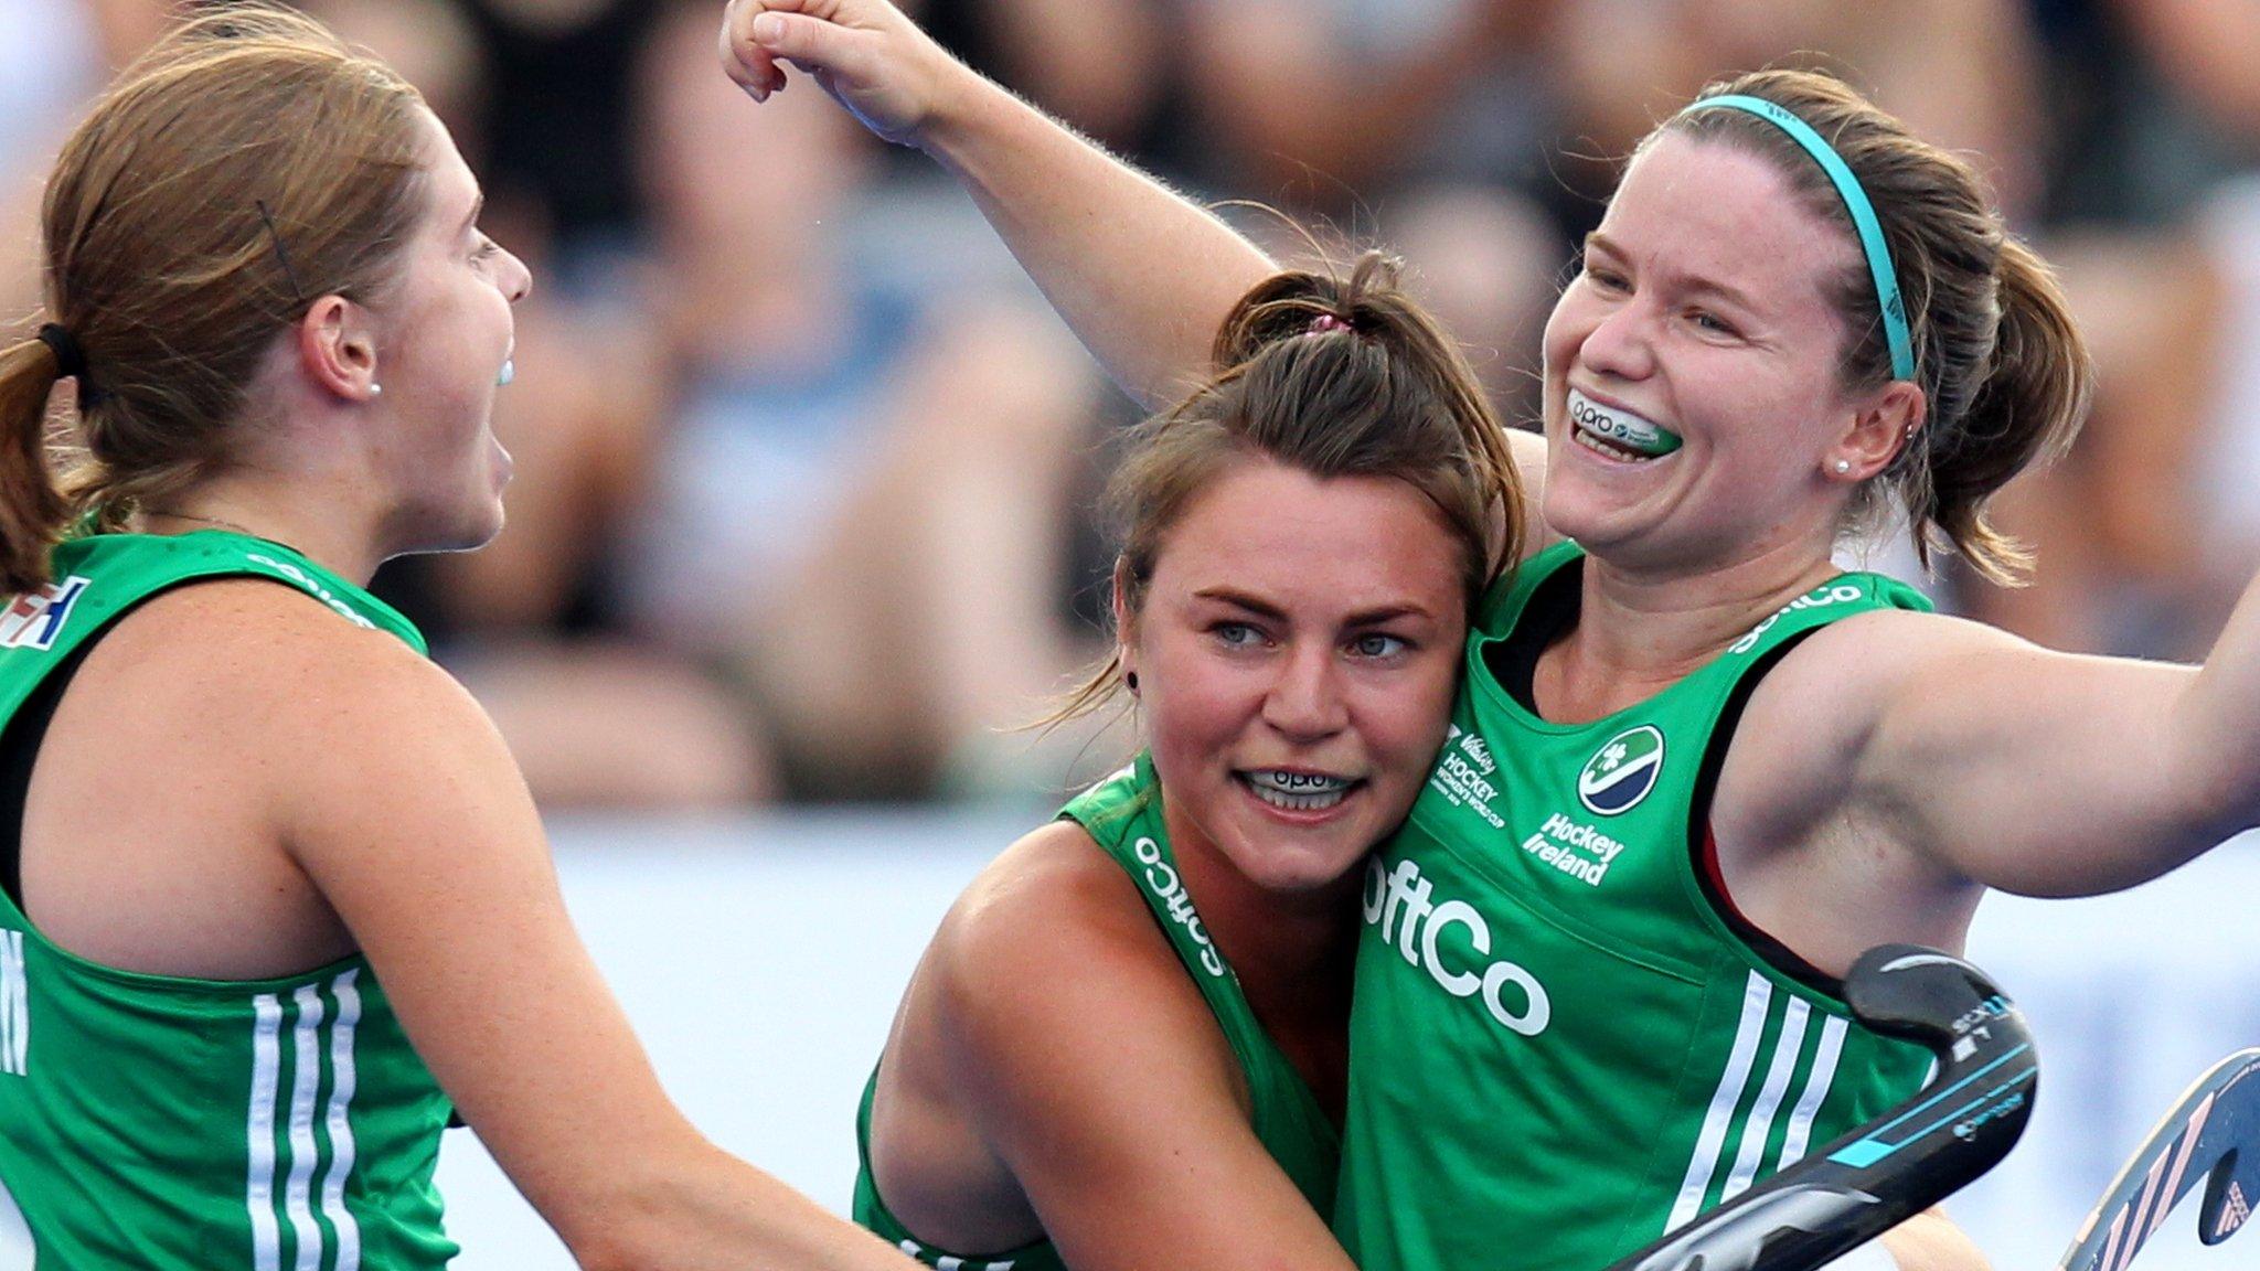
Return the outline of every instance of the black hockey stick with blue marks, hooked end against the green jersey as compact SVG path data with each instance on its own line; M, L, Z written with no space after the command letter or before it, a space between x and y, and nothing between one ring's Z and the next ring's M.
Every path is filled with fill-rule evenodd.
M2016 1004L1975 966L1919 945L1860 954L1844 1000L1869 1029L1930 1047L1937 1079L1609 1271L1815 1271L2000 1165L2041 1079Z

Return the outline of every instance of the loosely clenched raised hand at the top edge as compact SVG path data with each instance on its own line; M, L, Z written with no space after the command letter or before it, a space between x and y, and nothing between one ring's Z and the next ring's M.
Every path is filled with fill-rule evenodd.
M730 0L723 72L764 102L784 88L784 63L897 145L922 145L927 124L976 84L888 0Z

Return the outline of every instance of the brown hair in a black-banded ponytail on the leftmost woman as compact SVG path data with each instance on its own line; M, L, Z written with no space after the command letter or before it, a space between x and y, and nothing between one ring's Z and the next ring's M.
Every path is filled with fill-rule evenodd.
M282 332L395 280L432 127L389 66L269 0L199 7L108 86L41 215L45 310L86 360L52 452L54 353L0 353L0 583L43 583L66 529L120 529L235 457Z

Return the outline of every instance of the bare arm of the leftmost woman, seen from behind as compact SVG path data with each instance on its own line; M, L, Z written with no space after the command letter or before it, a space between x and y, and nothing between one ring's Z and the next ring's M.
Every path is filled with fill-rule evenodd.
M292 857L583 1266L909 1269L712 1147L581 948L511 755L438 667L298 597L255 672ZM278 690L276 683L287 685ZM246 685L260 688L260 685Z

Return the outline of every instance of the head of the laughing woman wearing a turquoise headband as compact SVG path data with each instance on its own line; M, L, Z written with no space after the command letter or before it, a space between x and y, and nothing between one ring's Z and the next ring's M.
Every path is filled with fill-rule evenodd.
M1996 581L2027 563L1984 507L2070 446L2088 371L2054 278L2005 233L1966 161L1826 77L1715 84L1634 154L1582 265L1546 326L1548 418L1568 425L1550 436L1634 466L1700 439L1677 477L1659 466L1643 479L1675 507L1693 482L1731 491L1693 500L1731 520L1686 507L1677 531L1745 556L1788 552L1785 536L1813 534L1792 507L1810 477L1801 457L1831 446L1819 488L1849 500L1824 534L1903 516L1923 559L1955 552ZM1860 427L1824 439L1851 409ZM1803 446L1781 446L1794 430ZM1632 502L1587 502L1577 473L1593 468L1555 459L1553 531L1587 547L1634 534L1607 522Z

